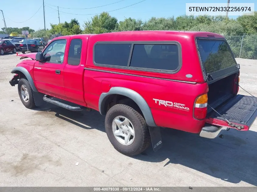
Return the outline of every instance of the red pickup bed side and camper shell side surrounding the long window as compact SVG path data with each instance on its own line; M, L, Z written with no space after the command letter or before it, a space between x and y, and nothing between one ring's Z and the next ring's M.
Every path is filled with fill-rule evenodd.
M208 37L208 35L221 37L207 32L169 31L117 32L90 36L84 73L86 103L88 103L89 107L99 110L99 96L102 92L108 92L106 85L109 86L109 89L116 86L125 87L136 91L146 100L157 126L199 133L204 126L205 120L193 118L193 107L197 96L208 92L208 85L203 78L203 70L195 39L198 36ZM104 41L133 41L135 44L137 41L178 42L181 45L182 54L181 69L175 73L162 73L96 66L93 62L93 48L95 43ZM106 72L90 69L105 70ZM192 77L188 78L188 74ZM186 83L185 81L192 83ZM175 103L180 103L182 106L187 107L188 110L159 105L155 99L172 102L174 105Z

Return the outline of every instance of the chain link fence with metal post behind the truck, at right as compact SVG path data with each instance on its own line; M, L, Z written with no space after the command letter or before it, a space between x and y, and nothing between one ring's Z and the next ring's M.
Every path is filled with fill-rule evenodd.
M235 58L257 59L257 36L224 36Z

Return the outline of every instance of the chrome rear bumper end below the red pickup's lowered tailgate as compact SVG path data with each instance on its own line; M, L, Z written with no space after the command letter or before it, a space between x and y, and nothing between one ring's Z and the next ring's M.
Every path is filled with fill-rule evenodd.
M202 128L202 130L200 132L200 136L208 138L208 139L214 139L223 130L229 130L229 128L222 127L222 126L213 126L211 124L206 123L205 126Z

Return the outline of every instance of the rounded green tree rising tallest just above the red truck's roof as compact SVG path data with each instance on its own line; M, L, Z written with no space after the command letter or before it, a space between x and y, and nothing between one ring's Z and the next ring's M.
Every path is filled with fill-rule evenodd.
M102 12L100 15L95 15L91 21L84 22L85 34L100 34L116 31L118 28L117 19L111 17L109 13Z

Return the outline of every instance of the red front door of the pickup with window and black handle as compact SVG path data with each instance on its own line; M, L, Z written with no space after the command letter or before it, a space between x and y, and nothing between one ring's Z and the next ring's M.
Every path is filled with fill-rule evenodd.
M69 38L51 42L43 52L45 60L36 61L33 69L35 86L43 93L66 98L64 94L63 70L66 62L66 44Z

